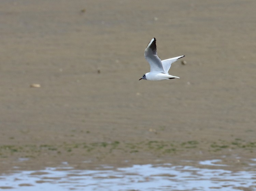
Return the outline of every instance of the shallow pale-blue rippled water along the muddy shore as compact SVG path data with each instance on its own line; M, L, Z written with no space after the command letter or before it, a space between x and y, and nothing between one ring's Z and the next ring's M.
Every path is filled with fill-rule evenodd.
M252 159L251 167L256 160ZM203 168L172 166L172 164L133 165L126 168L101 166L100 170L75 170L65 167L45 168L40 171L11 171L0 176L0 189L35 190L254 190L256 172L244 168L232 172L223 169L221 160L198 162ZM62 164L62 165L63 165ZM217 169L210 169L210 167Z

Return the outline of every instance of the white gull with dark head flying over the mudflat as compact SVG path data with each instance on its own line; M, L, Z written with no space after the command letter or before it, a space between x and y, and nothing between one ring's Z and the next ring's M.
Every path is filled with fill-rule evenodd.
M156 38L152 38L152 40L148 43L147 48L145 49L145 58L150 64L150 72L144 74L140 80L143 79L151 81L162 81L179 78L177 76L169 75L168 71L171 68L171 64L173 62L184 56L185 55L177 56L161 61L157 56Z

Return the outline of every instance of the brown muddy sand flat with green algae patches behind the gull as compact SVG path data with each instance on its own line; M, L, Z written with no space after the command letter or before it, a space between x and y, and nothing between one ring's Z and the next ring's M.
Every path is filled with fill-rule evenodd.
M255 7L2 0L0 172L255 158ZM180 79L138 81L153 37L160 58L186 55L170 70Z

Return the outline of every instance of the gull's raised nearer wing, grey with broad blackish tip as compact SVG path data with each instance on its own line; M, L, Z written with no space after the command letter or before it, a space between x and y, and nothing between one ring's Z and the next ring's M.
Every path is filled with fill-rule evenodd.
M165 72L165 70L163 70L162 62L157 56L156 38L152 38L152 40L148 43L144 55L147 62L150 64L150 72Z

